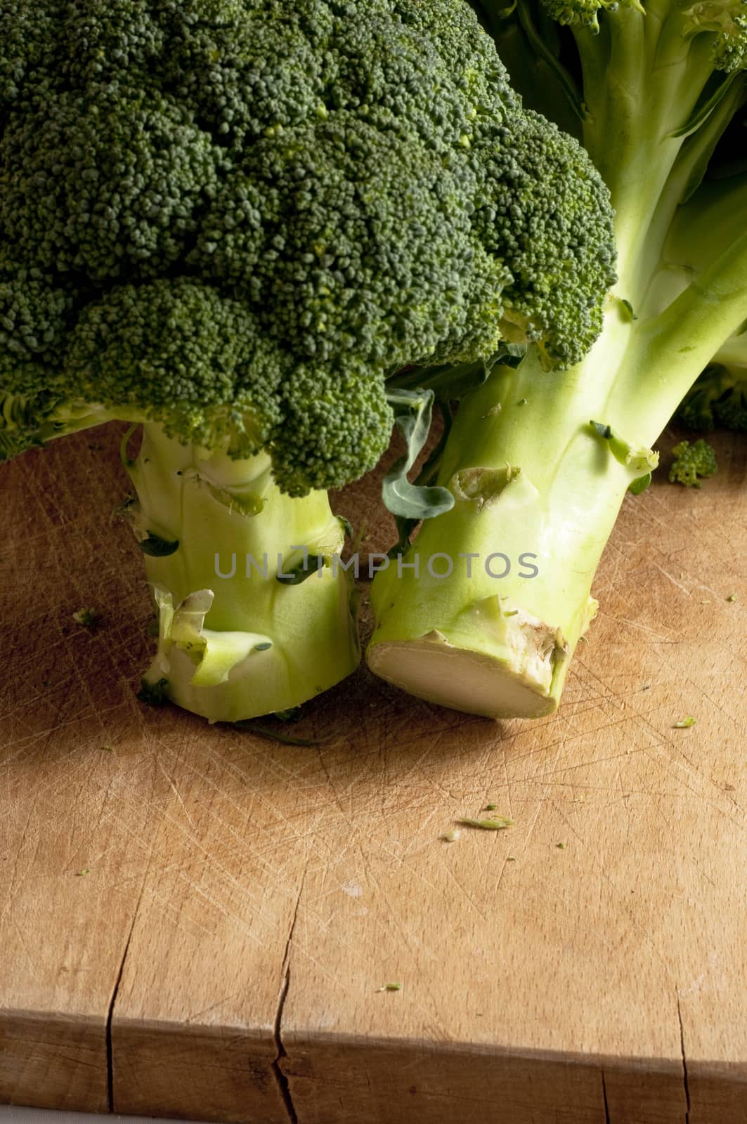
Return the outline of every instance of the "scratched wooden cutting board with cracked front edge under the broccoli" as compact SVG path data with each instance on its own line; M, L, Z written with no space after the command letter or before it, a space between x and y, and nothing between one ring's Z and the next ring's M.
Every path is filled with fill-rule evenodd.
M117 441L0 472L0 1100L744 1124L747 443L717 441L700 492L626 501L557 716L458 715L361 670L289 746L136 701ZM339 502L369 549L376 490ZM441 841L488 803L515 826Z

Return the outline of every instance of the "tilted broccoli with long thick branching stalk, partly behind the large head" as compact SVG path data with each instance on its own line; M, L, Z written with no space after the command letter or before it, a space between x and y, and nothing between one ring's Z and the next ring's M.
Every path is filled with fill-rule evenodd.
M377 574L368 660L431 701L540 717L557 708L595 614L592 582L627 491L650 480L651 446L701 372L744 344L747 10L744 0L472 7L528 107L569 129L610 189L618 280L600 338L567 370L548 372L530 339L476 388L456 366L451 383L439 372L443 397L464 400L423 482L454 504ZM582 299L584 277L572 262L567 272ZM712 386L710 399L696 386L687 409L740 424L736 382Z

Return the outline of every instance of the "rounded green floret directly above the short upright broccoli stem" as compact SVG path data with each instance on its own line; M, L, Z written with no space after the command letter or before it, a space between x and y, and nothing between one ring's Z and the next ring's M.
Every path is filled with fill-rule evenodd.
M170 437L250 456L282 418L289 357L251 309L191 281L111 289L71 334L65 374L83 401L160 423Z

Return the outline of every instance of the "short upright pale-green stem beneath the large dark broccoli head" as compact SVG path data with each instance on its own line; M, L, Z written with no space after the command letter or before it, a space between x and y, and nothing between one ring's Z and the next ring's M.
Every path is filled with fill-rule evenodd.
M210 455L156 425L143 427L128 471L129 515L160 609L147 682L168 680L173 703L212 722L237 722L299 706L356 669L352 575L331 564L344 531L326 492L291 499L266 454ZM312 575L279 581L303 547Z

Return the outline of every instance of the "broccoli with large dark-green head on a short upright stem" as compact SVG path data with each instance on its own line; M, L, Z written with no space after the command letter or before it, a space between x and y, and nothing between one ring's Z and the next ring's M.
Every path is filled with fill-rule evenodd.
M387 377L580 360L609 191L462 0L0 0L0 457L140 427L146 685L294 707L359 659L326 489Z

